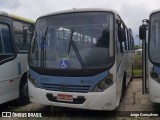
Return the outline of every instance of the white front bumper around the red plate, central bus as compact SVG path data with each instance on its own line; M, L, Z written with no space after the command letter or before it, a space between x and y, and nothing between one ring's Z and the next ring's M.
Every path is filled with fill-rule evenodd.
M74 93L50 91L35 88L30 81L29 96L31 102L59 107L91 109L91 110L114 110L116 105L116 85L115 83L103 92ZM59 101L58 95L66 95L73 98L73 101Z

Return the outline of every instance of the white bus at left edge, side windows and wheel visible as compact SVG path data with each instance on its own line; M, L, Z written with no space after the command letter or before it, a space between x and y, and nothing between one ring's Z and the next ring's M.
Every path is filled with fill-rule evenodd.
M0 11L0 104L29 101L27 60L34 22Z

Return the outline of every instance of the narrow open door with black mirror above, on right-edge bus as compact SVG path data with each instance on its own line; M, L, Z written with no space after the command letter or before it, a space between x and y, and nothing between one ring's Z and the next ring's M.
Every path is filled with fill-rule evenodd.
M142 40L142 93L148 93L148 20L143 20L139 27L139 39Z

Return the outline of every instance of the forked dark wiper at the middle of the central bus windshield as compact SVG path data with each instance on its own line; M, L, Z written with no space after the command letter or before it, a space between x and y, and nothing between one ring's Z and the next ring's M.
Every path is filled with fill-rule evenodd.
M75 53L76 53L76 55L77 55L77 58L78 58L78 60L79 60L79 62L80 62L80 64L81 64L81 66L82 66L82 68L83 69L86 69L86 65L85 65L85 63L84 63L84 61L83 61L83 59L82 59L82 57L81 57L81 55L80 55L80 53L79 53L79 50L78 50L78 48L77 48L77 46L76 46L76 43L73 41L73 33L74 33L74 28L72 29L72 31L71 31L71 36L70 36L70 42L69 42L69 48L68 48L68 56L69 56L69 53L70 53L70 49L71 49L71 45L72 45L72 47L73 47L73 49L74 49L74 51L75 51Z

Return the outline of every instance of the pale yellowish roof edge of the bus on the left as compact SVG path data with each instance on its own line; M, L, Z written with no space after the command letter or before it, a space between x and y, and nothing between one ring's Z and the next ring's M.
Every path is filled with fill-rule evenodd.
M14 18L14 19L17 19L17 20L22 20L22 21L25 21L25 22L35 23L35 22L34 22L33 20L31 20L31 19L24 18L24 17L20 17L20 16L18 16L18 15L14 15L14 14L9 14L8 12L5 12L5 11L0 11L0 15L1 15L1 16L11 17L11 18Z

